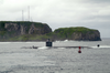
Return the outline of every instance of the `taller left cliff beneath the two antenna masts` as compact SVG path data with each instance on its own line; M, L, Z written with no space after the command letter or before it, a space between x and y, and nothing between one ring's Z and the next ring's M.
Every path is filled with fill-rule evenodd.
M29 22L29 21L0 21L0 41L15 40L14 38L28 35L43 35L52 32L46 23ZM24 40L19 39L19 41Z

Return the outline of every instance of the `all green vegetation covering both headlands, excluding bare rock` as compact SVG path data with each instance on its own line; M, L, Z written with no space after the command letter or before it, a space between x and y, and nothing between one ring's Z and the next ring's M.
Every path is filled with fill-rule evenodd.
M21 34L21 31L14 31L14 29L18 29L18 27L14 28L14 25L10 25L7 29L6 23L14 23L14 25L23 27L23 30L25 30L24 34ZM33 31L33 33L29 34L30 27L34 23L36 31ZM72 39L73 33L82 33L86 34L89 32L89 34L92 34L94 29L88 29L84 27L76 27L76 28L59 28L56 29L54 32L44 33L44 31L47 31L48 29L44 29L44 25L47 27L45 23L41 22L30 22L30 21L0 21L0 41L46 41L47 39L52 40L65 40L65 39ZM38 30L40 29L40 30ZM19 28L20 30L20 28ZM42 32L44 34L42 34ZM48 31L47 31L48 32Z

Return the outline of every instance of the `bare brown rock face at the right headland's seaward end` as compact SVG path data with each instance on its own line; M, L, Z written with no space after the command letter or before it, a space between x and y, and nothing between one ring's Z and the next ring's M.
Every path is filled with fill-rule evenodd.
M76 33L72 34L73 40L84 40L84 41L101 41L100 32L96 31L88 31L86 33Z

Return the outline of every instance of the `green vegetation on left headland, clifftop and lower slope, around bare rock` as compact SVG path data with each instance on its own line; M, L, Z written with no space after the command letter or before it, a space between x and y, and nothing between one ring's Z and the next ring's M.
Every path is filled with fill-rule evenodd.
M9 23L8 28L6 28L6 24ZM11 25L14 24L14 25ZM44 29L44 27L47 27L46 23L41 22L30 22L30 21L0 21L0 41L42 41L46 40L50 36L46 34L42 34L44 30L35 31L32 34L29 34L31 25L34 24L37 29ZM22 28L18 28L21 27ZM15 29L19 30L15 30ZM20 29L23 29L25 31L24 34L21 34Z

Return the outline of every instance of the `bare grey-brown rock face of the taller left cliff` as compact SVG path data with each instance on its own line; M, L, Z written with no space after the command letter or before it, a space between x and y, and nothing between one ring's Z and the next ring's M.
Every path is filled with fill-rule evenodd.
M16 34L45 34L52 32L52 29L47 24L41 24L41 27L35 27L35 23L28 24L24 23L4 23L4 29L8 32L16 32Z

